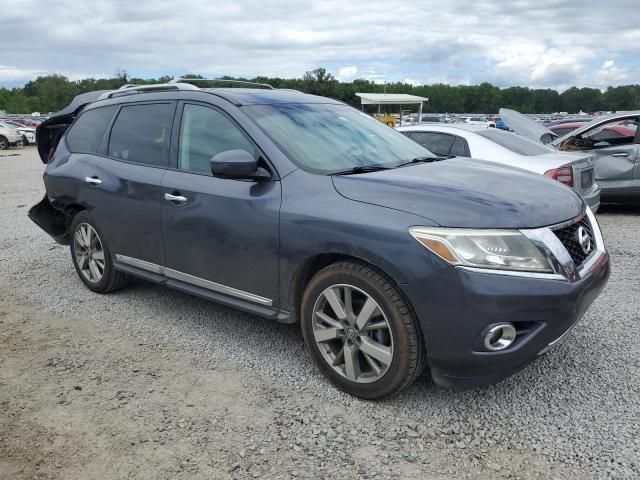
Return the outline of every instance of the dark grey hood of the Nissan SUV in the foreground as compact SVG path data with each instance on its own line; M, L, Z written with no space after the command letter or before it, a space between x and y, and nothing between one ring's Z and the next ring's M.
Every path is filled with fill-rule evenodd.
M584 210L554 180L481 160L456 158L360 175L334 175L342 196L419 215L443 227L538 228Z

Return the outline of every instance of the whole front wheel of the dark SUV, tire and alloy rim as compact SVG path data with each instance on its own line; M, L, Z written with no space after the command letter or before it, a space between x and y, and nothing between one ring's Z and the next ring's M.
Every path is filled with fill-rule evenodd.
M422 373L420 325L400 290L378 270L356 262L324 268L309 282L301 310L307 350L344 392L381 399Z

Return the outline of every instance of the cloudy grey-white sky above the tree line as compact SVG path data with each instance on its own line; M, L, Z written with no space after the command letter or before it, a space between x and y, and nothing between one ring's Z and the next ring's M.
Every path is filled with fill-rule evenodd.
M606 88L640 83L640 0L11 0L0 86L185 73Z

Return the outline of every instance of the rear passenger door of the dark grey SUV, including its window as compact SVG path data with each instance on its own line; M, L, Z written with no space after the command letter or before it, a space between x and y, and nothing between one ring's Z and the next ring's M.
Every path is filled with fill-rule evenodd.
M118 261L162 265L161 182L175 106L162 101L118 107L100 154L83 159L82 197Z

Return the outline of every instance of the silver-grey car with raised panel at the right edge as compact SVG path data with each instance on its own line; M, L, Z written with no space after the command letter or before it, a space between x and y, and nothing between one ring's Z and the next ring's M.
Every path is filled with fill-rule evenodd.
M500 109L500 116L520 135L591 155L603 201L640 202L640 111L599 117L562 136L513 110Z

